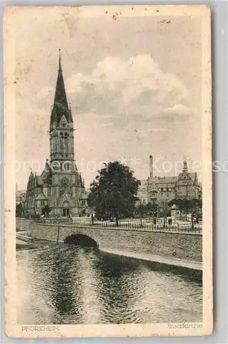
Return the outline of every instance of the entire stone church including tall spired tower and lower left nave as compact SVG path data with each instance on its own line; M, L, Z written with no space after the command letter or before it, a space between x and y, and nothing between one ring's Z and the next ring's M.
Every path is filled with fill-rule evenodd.
M25 211L28 215L41 215L46 206L50 217L87 215L85 185L74 160L74 123L65 93L60 50L49 136L50 160L46 160L41 175L30 172Z

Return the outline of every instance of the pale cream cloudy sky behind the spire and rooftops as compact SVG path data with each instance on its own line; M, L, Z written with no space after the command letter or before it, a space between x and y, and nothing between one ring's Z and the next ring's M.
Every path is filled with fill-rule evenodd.
M15 27L17 184L49 158L59 63L74 120L76 165L85 186L103 162L139 179L174 175L202 160L201 22L197 17L80 17L31 10ZM165 167L164 167L165 166ZM194 171L194 169L193 169Z

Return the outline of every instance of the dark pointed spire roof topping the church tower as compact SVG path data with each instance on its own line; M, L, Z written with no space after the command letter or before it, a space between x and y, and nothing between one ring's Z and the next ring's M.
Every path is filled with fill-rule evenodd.
M65 94L65 85L63 81L63 72L61 66L61 50L59 49L59 70L54 94L54 105L51 115L51 124L53 124L56 121L56 124L58 124L63 115L65 116L66 120L69 121L70 113L67 96Z

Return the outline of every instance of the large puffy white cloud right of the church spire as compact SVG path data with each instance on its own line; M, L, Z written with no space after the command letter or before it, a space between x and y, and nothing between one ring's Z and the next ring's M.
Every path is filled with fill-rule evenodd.
M156 115L188 96L183 81L163 72L149 55L107 56L90 74L73 74L65 87L76 111L115 116Z

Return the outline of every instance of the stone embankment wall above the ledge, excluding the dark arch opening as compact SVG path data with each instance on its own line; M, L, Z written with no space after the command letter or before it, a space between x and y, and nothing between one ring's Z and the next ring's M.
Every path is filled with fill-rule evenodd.
M120 230L74 225L34 224L29 220L17 220L17 229L24 229L32 237L64 241L70 235L83 234L94 239L102 250L118 250L149 253L163 257L176 257L202 261L200 234L153 232L149 230Z

